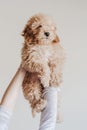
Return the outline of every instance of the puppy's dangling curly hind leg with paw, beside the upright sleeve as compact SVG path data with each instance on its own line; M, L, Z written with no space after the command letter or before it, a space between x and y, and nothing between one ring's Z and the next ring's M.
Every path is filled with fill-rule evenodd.
M24 97L29 101L34 117L36 112L41 112L46 106L46 101L41 97L43 87L40 85L37 74L29 72L26 72L22 85Z

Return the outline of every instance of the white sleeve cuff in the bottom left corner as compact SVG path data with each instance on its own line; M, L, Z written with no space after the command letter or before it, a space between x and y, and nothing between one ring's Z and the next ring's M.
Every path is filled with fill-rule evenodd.
M8 125L12 116L12 112L4 106L0 106L0 130L8 130Z

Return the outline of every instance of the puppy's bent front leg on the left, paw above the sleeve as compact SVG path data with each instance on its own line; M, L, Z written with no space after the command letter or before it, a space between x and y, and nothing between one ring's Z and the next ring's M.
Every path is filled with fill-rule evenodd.
M34 57L32 56L34 55ZM26 61L23 60L22 67L32 73L38 73L43 87L49 86L50 69L45 60L37 55L37 53L30 55Z

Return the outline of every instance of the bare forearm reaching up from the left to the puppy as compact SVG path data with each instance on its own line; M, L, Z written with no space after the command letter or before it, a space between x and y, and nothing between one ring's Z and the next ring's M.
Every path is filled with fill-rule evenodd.
M22 85L22 81L24 79L24 75L25 70L19 68L2 97L1 105L6 107L10 111L14 110L14 106L18 97L20 86Z

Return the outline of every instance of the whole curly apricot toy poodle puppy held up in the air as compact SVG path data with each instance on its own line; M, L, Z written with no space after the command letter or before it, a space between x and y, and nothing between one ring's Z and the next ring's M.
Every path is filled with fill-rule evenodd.
M22 32L22 67L27 71L22 86L33 116L46 106L42 96L44 88L58 87L62 82L65 54L56 31L50 17L37 14L30 18Z

